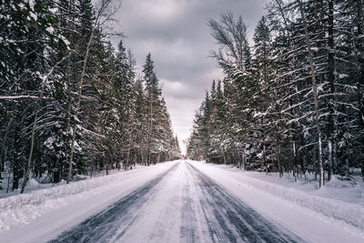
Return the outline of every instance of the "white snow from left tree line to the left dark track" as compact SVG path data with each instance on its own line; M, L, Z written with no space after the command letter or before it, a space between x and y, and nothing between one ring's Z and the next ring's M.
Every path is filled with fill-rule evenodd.
M1 198L0 242L36 242L38 236L44 238L45 235L60 233L125 197L174 163L139 167L115 175Z

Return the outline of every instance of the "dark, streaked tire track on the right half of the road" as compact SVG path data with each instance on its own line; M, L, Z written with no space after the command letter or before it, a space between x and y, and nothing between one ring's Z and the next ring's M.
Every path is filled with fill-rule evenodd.
M187 163L196 177L200 204L212 242L302 242L288 230L280 229ZM274 208L272 208L274 209Z

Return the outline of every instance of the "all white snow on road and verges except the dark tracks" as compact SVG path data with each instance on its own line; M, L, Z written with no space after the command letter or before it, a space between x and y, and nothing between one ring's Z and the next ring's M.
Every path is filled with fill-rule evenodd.
M198 241L203 242L208 237L209 219L202 213L204 208L199 203L203 194L198 192L197 177L192 176L187 163L278 227L288 228L307 242L364 240L361 199L353 203L329 197L335 194L331 191L348 189L345 183L334 179L329 187L316 190L312 185L294 183L288 178L278 180L274 175L262 177L258 173L196 161L139 167L111 176L5 197L0 199L0 239L4 242L45 242L55 238L67 228L126 197L137 187L146 185L176 163L180 163L177 169L157 184L153 196L132 216L134 219L121 238L123 242L184 242L184 238L179 238L180 232L183 227L188 227L191 218L184 217L182 214L186 210L179 208L186 207L187 202L197 217L193 224L189 223L195 226ZM32 183L36 184L35 181Z

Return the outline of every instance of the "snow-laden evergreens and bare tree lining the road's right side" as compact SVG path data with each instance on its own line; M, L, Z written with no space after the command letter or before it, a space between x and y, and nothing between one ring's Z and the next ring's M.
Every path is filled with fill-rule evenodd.
M197 110L187 154L242 169L364 177L364 2L271 0L249 45L231 13L208 25L224 71Z

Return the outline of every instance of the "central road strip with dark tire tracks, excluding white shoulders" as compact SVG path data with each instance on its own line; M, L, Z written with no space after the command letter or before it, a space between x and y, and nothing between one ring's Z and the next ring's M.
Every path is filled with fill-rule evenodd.
M52 242L296 242L187 162Z

